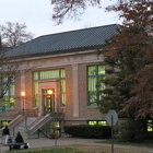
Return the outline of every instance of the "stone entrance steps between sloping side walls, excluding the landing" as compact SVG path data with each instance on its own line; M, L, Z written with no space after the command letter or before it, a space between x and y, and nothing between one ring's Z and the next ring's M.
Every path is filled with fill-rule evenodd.
M46 134L46 129L48 130L49 128L50 120L51 117L49 114L46 116L27 118L19 115L8 127L12 139L15 138L17 131L21 132L24 139L34 139L38 137L46 137L44 134Z

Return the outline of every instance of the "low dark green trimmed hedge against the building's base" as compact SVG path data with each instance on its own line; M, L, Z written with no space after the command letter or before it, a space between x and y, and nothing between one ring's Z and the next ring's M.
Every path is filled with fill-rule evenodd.
M75 138L108 139L111 136L110 127L103 126L66 126L64 133Z

